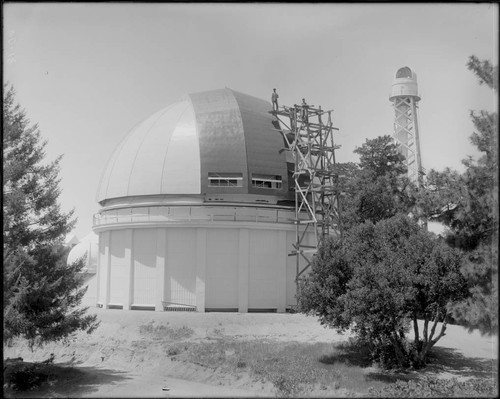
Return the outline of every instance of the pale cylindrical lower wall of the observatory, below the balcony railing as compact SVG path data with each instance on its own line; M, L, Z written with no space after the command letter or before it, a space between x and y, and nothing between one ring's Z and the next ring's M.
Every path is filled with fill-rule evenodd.
M276 310L296 303L293 226L118 228L99 233L97 303Z

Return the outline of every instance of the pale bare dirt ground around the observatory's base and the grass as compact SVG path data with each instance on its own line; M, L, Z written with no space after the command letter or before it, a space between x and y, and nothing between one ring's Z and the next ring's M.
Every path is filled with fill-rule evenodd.
M42 361L54 354L54 367L65 378L55 387L32 392L32 397L273 397L272 384L255 380L250 374L237 377L216 373L205 367L175 361L165 355L162 341L147 335L141 326L189 327L186 342L217 337L237 340L263 339L269 342L340 343L340 335L322 327L316 318L301 314L243 314L196 312L148 312L91 308L101 320L91 335L78 334L67 344L49 344L31 352L24 342L4 346L4 358L22 357ZM468 333L448 326L436 345L443 359L427 373L440 377L487 377L497 370L497 337ZM67 366L72 365L72 368ZM62 381L65 381L64 383ZM26 396L26 395L23 395ZM29 395L28 395L29 396ZM341 392L337 396L343 396Z

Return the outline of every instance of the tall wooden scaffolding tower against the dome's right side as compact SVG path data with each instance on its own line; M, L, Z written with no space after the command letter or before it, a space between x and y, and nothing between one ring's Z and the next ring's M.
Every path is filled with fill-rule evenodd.
M301 105L271 111L294 159L296 242L289 256L296 256L296 282L311 266L323 237L340 234L338 175L335 169L332 112ZM314 234L308 234L314 233ZM313 242L310 236L313 236ZM301 268L300 259L305 260Z

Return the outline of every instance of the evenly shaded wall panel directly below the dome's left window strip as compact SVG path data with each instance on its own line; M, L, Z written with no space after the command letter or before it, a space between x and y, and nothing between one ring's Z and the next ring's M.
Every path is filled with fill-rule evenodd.
M238 308L238 230L207 234L206 308Z

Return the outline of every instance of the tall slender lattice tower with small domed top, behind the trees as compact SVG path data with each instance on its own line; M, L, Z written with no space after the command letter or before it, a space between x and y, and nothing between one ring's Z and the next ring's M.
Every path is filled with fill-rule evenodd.
M389 100L394 106L394 140L406 158L408 178L421 186L423 168L420 158L417 103L420 101L417 74L408 67L396 72Z

